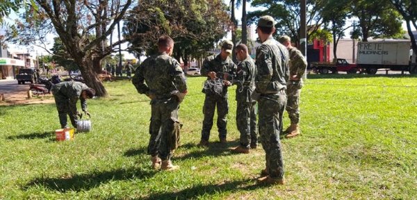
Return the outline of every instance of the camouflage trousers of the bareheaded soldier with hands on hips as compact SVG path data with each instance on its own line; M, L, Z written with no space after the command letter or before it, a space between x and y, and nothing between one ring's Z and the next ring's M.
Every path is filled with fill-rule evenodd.
M152 100L152 116L149 126L149 144L147 153L151 156L159 155L162 160L172 157L172 138L175 123L178 123L179 103L177 99Z

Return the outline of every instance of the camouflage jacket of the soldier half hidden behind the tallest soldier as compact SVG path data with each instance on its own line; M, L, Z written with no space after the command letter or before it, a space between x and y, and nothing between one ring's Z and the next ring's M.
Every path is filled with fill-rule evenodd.
M290 53L290 77L293 75L297 75L300 78L300 83L302 84L302 77L306 72L307 61L300 50L295 47L291 47L288 49Z

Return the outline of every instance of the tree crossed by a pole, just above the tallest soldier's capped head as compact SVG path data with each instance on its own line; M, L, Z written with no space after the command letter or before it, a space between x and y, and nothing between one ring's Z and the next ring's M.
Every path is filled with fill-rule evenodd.
M307 39L317 31L323 24L320 15L326 0L307 1ZM275 18L275 28L277 35L288 35L296 44L300 43L300 0L254 0L254 7L265 7L266 10L256 10L248 13L248 21L256 22L262 15L271 15Z

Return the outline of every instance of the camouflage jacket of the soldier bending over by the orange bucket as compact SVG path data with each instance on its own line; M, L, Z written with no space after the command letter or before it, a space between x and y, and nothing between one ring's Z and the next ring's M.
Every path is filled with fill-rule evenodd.
M87 111L87 101L81 98L81 92L85 89L88 89L88 86L84 83L77 81L64 81L55 84L51 90L54 96L58 97L58 99L69 99L70 105L72 106L75 106L76 101L80 99L81 109L83 111Z

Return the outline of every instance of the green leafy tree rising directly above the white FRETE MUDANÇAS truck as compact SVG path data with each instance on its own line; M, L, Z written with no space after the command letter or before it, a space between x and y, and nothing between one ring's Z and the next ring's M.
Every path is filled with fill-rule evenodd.
M402 18L389 0L354 0L351 10L359 18L363 41L369 37L389 38L402 31Z

